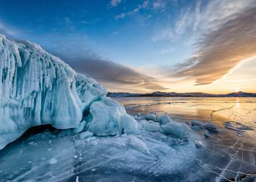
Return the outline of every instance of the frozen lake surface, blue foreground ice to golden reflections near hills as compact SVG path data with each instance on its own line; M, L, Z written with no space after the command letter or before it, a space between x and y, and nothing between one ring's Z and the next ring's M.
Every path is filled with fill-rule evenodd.
M256 98L114 99L131 115L167 113L186 123L188 134L142 128L138 135L80 139L48 126L0 151L0 181L255 181ZM205 137L191 121L212 121L220 131Z

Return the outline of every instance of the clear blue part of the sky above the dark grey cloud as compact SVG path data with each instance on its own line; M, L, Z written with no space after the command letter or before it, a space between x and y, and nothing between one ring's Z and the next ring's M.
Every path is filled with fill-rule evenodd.
M166 10L147 5L125 18L117 16L137 9L144 1L123 1L114 7L110 1L4 1L0 11L1 20L14 27L19 38L49 51L71 44L71 49L80 46L118 63L142 66L189 56L191 51L182 40L153 40L159 28L172 26L179 11L191 6L187 2L170 2ZM170 54L172 57L167 56Z

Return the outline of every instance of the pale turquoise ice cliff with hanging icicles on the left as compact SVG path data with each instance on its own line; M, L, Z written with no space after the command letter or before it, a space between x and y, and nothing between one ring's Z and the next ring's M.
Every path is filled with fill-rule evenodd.
M102 85L35 43L0 34L0 78L0 149L38 125L96 135L137 131L137 122Z

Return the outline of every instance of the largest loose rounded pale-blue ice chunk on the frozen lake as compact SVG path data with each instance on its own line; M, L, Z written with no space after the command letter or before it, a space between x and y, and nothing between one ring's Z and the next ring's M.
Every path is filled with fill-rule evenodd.
M184 123L169 122L162 125L164 133L174 135L175 137L183 138L187 134L188 127Z

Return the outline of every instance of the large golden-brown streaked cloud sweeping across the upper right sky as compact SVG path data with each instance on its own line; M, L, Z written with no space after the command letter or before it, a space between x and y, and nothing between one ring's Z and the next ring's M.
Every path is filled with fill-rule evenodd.
M186 67L177 65L179 71L170 69L170 75L195 79L195 85L210 84L227 75L243 60L256 56L256 6L251 5L250 8L234 6L233 9L231 6L231 13L208 16L212 24L205 24L197 39L195 56L183 63Z

